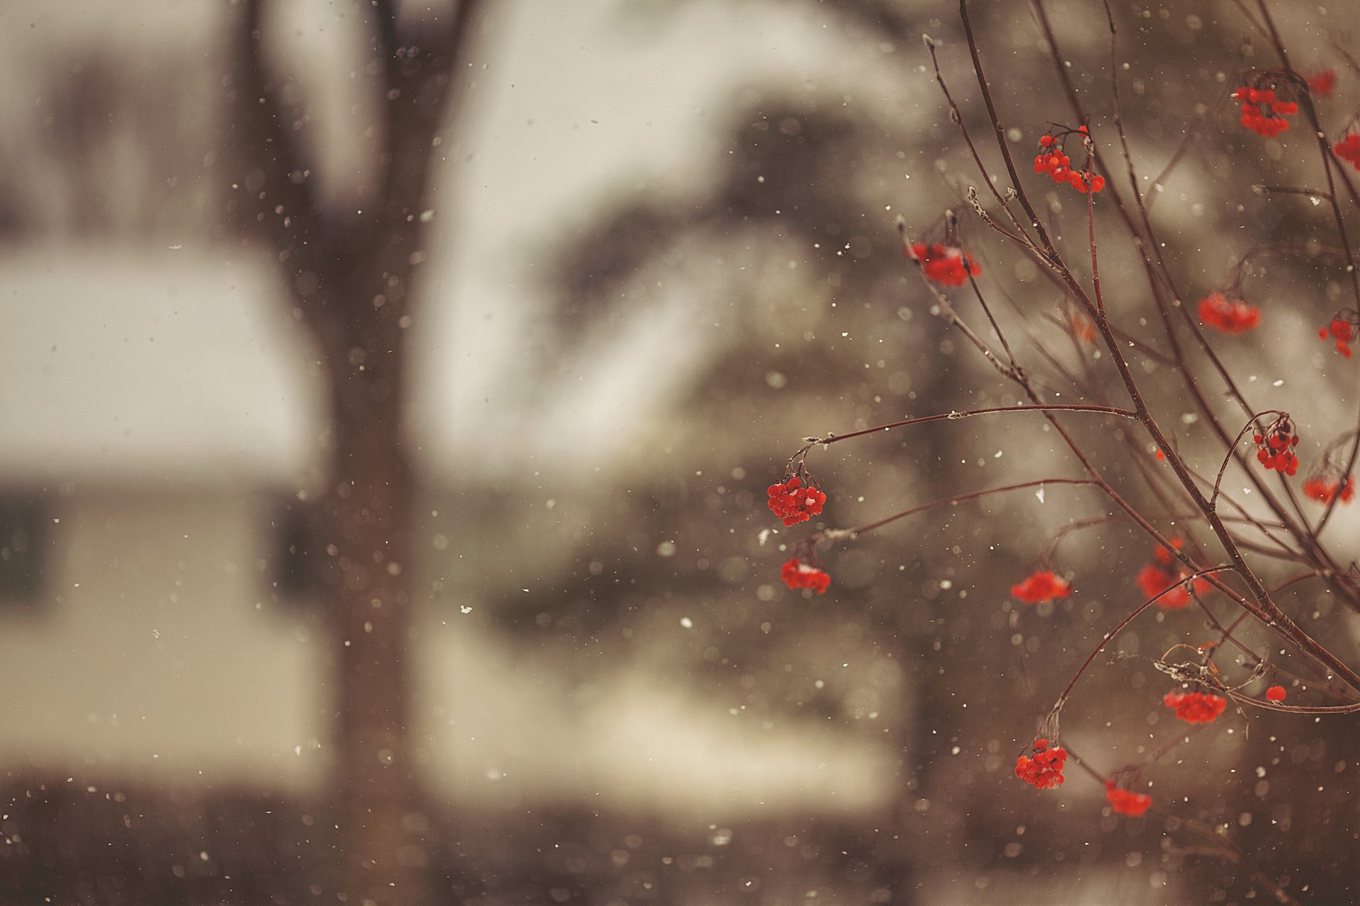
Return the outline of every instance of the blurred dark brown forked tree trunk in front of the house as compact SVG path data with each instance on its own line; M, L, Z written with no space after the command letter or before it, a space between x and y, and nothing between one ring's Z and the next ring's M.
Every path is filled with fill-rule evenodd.
M443 160L457 61L479 5L461 0L443 20L408 23L396 0L355 3L373 29L371 54L354 65L356 84L378 110L366 133L377 187L359 213L324 209L314 197L316 162L295 140L296 118L283 109L261 49L265 0L243 0L237 19L230 144L241 173L228 211L276 253L330 391L316 541L336 566L335 788L341 890L355 905L430 899L428 822L408 740L415 479L404 436L407 329L431 170Z

